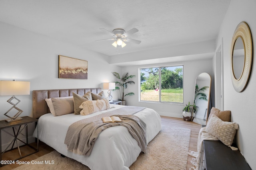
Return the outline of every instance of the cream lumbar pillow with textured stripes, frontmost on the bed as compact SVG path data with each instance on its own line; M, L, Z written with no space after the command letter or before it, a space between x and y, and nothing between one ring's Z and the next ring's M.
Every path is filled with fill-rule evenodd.
M95 113L97 111L102 111L110 108L110 104L108 99L101 99L101 100L87 100L83 102L80 106L81 115L89 115L91 113Z

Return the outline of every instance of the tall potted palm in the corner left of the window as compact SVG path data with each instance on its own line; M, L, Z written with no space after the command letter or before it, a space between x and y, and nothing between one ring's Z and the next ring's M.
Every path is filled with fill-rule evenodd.
M124 90L128 87L128 84L135 84L134 81L129 80L130 78L135 77L135 75L129 75L128 72L124 73L122 77L117 72L113 72L113 75L118 78L120 81L116 81L116 84L120 87L116 87L116 90L119 90L119 94L121 98L119 100L122 101L122 105L125 105L125 96L132 96L134 93L130 92L127 94L124 94ZM129 80L129 81L128 81Z

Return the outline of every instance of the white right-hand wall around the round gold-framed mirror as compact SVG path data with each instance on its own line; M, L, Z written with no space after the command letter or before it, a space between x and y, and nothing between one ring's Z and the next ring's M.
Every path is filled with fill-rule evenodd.
M248 164L256 170L256 1L255 0L231 0L230 6L222 23L216 47L219 47L223 38L223 62L224 62L224 110L231 110L231 120L239 124L237 131L238 148L244 155ZM243 92L236 92L231 81L230 49L233 33L241 21L248 23L253 41L253 61L250 79Z

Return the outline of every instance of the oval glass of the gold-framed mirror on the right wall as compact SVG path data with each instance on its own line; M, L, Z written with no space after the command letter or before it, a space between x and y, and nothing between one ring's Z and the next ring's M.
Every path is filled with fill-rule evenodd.
M232 57L232 67L236 79L239 79L242 75L244 69L244 57L244 41L241 37L238 37L234 45Z

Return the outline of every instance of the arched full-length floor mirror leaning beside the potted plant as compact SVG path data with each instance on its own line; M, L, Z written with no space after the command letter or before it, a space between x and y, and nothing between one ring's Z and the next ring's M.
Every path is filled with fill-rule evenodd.
M210 104L211 76L204 72L197 76L195 84L194 105L196 105L196 115L194 122L206 125Z

